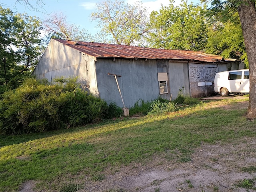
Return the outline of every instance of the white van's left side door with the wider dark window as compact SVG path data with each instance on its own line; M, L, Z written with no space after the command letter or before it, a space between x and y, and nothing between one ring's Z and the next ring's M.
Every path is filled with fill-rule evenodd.
M242 71L232 71L228 73L228 82L230 84L229 92L241 93L242 87Z

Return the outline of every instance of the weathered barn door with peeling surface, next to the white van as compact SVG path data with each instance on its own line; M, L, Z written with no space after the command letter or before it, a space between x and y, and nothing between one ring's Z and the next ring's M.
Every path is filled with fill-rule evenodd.
M214 77L217 65L189 64L190 96L208 97L214 92Z

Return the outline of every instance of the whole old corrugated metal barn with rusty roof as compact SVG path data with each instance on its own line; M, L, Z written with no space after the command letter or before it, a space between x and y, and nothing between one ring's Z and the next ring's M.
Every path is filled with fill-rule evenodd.
M51 39L32 75L77 76L91 94L130 108L159 96L175 99L178 92L211 96L216 72L236 69L236 59L203 52Z

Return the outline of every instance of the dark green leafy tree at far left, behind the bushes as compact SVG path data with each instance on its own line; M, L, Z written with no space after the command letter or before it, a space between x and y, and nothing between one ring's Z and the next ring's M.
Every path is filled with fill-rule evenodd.
M14 88L30 75L44 50L41 29L38 18L0 6L1 86Z

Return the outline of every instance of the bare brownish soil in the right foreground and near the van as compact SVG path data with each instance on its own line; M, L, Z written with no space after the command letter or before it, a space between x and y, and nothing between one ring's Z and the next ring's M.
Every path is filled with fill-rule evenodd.
M206 108L247 108L248 102L236 105L218 105L211 102ZM168 152L167 152L168 153ZM177 163L174 159L154 156L150 162L104 170L103 181L93 182L84 178L84 188L78 192L247 192L236 184L244 179L256 180L253 172L243 172L242 167L256 167L256 138L244 137L222 145L202 144L195 149L192 161ZM36 183L24 183L20 192L34 192ZM256 183L254 183L256 186Z

